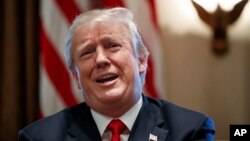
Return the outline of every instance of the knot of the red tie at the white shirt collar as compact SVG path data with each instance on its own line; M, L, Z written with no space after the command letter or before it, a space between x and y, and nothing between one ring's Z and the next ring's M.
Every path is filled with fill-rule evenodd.
M126 130L126 125L119 119L112 120L107 129L112 132L112 135L120 135Z

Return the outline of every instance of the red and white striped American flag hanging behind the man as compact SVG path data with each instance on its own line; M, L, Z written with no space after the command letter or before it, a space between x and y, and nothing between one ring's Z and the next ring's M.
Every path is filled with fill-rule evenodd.
M135 16L150 51L144 93L164 97L162 58L154 0L41 0L40 1L40 111L41 116L84 101L64 59L64 39L74 18L94 8L126 7Z

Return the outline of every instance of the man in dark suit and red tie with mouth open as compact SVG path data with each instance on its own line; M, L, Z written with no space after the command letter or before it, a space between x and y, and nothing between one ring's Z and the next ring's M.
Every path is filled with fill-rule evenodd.
M149 53L128 9L78 16L65 52L85 102L25 127L20 141L213 139L210 118L142 94Z

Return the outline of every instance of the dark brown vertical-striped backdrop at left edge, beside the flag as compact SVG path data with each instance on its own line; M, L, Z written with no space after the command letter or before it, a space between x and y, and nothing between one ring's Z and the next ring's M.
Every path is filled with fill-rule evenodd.
M39 1L0 1L0 140L38 119Z

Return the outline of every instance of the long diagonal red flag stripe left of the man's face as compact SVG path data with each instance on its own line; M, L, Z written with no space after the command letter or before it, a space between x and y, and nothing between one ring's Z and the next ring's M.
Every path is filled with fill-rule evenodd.
M40 26L40 43L42 64L45 66L45 70L55 89L58 91L58 94L61 96L66 105L75 105L77 100L73 96L69 73L46 36L42 23Z

